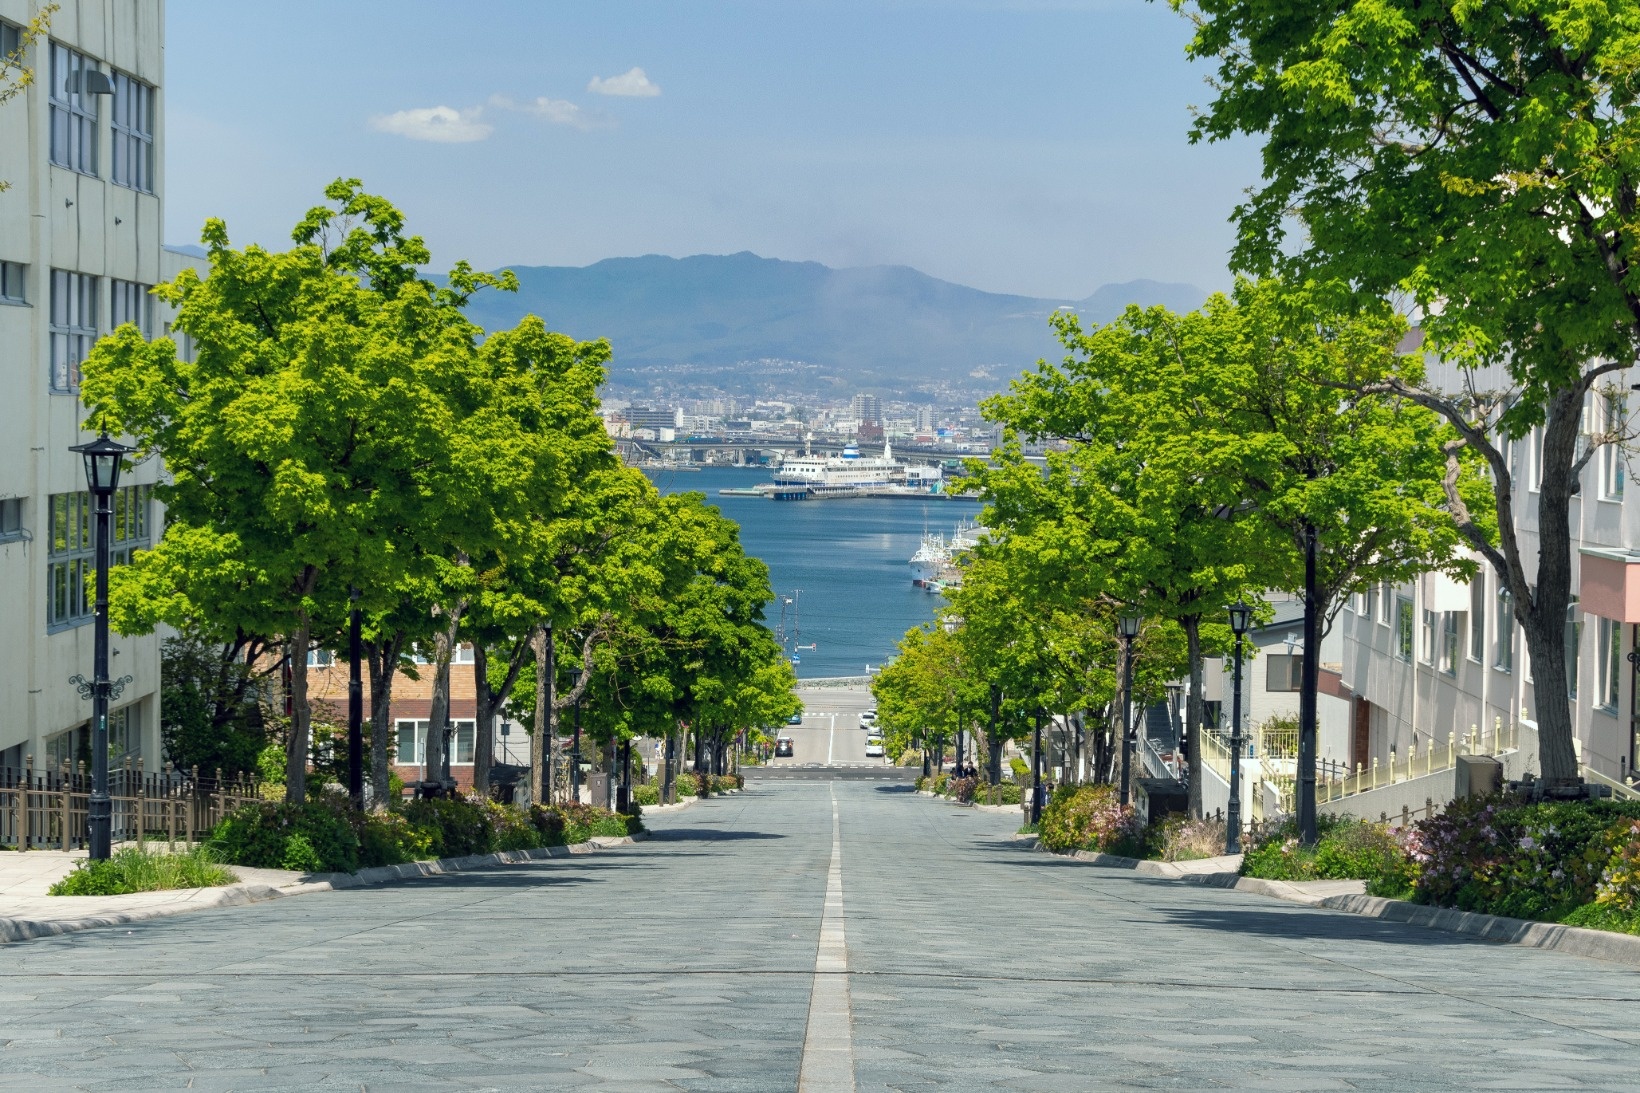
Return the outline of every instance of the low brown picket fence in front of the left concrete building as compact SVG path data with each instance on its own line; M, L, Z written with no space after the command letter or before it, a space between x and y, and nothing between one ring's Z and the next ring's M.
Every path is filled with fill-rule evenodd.
M0 766L0 847L77 850L85 847L85 812L92 780L85 763L21 770ZM261 801L257 783L244 778L164 771L144 773L141 760L108 771L113 840L198 842L243 804Z

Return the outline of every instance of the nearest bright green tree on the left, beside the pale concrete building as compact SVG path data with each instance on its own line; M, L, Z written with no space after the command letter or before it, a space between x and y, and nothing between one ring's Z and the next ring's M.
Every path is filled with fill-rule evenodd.
M358 181L297 225L295 248L233 249L220 220L210 276L156 289L195 345L133 325L98 341L82 394L92 422L164 458L164 538L112 581L128 627L205 617L218 630L282 638L294 725L285 791L308 761L307 652L331 633L349 589L390 606L410 563L443 558L485 527L490 496L464 456L479 330L461 313L505 277L458 266L446 287L417 272L426 246Z

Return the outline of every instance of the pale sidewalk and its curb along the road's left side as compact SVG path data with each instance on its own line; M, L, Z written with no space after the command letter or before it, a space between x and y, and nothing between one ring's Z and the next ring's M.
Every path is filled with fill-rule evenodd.
M674 806L649 807L645 812L672 812L690 804L694 804L694 799L679 801ZM494 868L497 865L523 865L548 858L597 853L599 850L630 847L641 839L645 839L643 832L620 839L599 837L572 847L476 853L464 858L382 865L359 870L358 873L298 873L292 870L256 870L231 865L228 868L239 876L238 885L143 891L130 896L48 894L51 885L67 876L77 862L85 860L84 850L0 852L0 942L52 937L98 926L126 926L185 911L238 908L284 896L390 885L418 876L440 876L443 873Z

